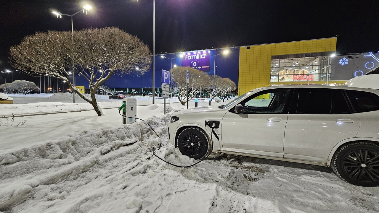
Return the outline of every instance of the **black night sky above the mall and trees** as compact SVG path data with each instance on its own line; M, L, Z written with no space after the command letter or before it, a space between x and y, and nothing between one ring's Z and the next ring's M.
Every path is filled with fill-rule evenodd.
M152 51L153 0L2 0L0 70L15 70L8 62L9 47L24 36L71 30L70 17L57 19L53 9L74 14L86 3L93 9L74 16L74 30L117 26L140 37ZM336 35L337 54L378 51L378 9L378 0L155 0L155 53ZM13 72L13 79L30 77Z

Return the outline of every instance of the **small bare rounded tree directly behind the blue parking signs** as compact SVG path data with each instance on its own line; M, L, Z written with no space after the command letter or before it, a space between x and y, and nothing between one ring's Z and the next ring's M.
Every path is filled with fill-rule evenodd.
M186 70L189 71L188 84L188 100L186 98ZM173 87L178 87L178 99L184 106L187 101L192 100L200 91L200 87L204 87L210 82L210 76L201 70L195 70L191 67L174 67L170 70L173 81Z

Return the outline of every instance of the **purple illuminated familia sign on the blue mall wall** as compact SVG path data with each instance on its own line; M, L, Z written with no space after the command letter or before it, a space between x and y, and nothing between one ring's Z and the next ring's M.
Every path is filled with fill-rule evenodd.
M182 58L182 67L209 72L210 51L194 51L186 53Z

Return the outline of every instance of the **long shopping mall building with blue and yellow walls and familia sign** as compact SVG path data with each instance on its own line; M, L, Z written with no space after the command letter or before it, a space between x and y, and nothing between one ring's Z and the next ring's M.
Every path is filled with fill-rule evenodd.
M336 56L337 37L195 50L155 56L155 91L161 86L161 70L190 66L209 75L230 78L243 94L251 89L281 84L344 84L379 67L379 54L356 53ZM228 54L223 54L229 50ZM80 76L77 85L88 87ZM105 82L112 90L140 93L151 91L152 70L141 74L114 75Z

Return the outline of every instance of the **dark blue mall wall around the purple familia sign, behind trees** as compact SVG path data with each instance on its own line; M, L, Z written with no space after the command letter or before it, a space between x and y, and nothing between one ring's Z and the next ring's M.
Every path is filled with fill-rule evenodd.
M224 50L225 49L210 50L210 54L217 55ZM222 78L230 78L238 86L239 50L240 48L232 48L227 55L220 54L216 56L216 70L214 66L215 56L210 56L210 71L206 73L213 75L215 72L215 75L219 75ZM179 57L180 54L181 53L163 54L166 58L161 58L161 55L155 56L155 88L161 87L161 70L171 69L171 59L172 67L174 67L174 65L182 65L182 58ZM150 70L142 76L142 87L152 87L152 76L152 67L150 67ZM88 81L83 78L83 76L75 75L75 78L77 86L85 86L85 88L88 88ZM114 74L103 85L110 88L141 88L141 74L137 72L130 75Z

